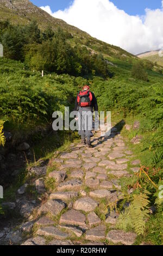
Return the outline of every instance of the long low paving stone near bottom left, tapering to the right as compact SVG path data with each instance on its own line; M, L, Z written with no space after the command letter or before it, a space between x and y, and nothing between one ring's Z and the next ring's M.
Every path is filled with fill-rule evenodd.
M66 239L68 234L60 231L57 227L41 227L36 232L37 235L53 236L56 239Z

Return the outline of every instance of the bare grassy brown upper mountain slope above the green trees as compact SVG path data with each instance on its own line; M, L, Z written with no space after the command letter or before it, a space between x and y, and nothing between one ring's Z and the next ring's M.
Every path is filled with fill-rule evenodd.
M72 34L72 44L86 45L94 51L105 53L108 56L118 57L134 57L127 51L122 50L120 47L112 46L92 38L86 32L80 29L68 25L65 21L56 19L36 7L28 0L0 0L0 21L9 20L14 24L25 25L32 20L35 20L39 24L39 28L44 30L48 26L51 26L53 30L58 28L64 29Z

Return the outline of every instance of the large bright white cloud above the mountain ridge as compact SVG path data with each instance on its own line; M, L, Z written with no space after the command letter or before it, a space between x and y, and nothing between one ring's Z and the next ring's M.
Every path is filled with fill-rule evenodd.
M146 9L143 17L128 15L109 0L74 0L69 8L55 13L49 6L41 8L102 41L137 54L156 50L163 43L161 2L162 9Z

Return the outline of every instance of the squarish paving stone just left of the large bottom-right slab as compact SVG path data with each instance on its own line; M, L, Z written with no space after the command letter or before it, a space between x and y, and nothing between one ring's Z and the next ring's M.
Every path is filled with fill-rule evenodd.
M91 228L90 230L86 231L85 239L91 241L105 239L105 230L106 228L103 225L96 228Z

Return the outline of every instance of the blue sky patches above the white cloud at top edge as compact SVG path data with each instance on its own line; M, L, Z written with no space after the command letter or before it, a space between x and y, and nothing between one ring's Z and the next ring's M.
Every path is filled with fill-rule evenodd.
M37 6L49 5L51 10L64 10L69 7L72 1L69 0L31 0ZM112 0L118 9L126 11L130 15L143 15L145 9L161 8L161 0Z

